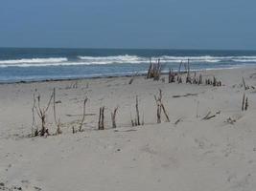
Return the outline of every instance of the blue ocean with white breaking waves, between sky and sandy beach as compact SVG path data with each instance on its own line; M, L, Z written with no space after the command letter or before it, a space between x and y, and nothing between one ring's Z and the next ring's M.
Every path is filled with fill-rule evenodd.
M0 48L0 82L146 74L150 57L163 71L188 59L192 70L256 66L256 51Z

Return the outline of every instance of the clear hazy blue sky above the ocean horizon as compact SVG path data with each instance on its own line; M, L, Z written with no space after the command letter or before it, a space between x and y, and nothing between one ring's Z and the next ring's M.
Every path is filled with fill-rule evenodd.
M256 50L256 1L1 0L0 47Z

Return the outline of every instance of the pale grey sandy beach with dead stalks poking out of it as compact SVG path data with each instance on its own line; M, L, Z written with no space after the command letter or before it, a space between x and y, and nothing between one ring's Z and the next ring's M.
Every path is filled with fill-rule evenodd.
M168 83L167 75L164 82L137 76L131 84L130 77L1 84L0 190L255 190L256 68L198 74L215 75L221 87ZM247 111L242 111L243 76ZM54 135L51 103L46 114L51 135L31 138L33 95L40 95L45 108L54 88L62 134ZM162 113L157 123L159 89L170 122ZM143 125L132 127L136 96ZM82 132L73 134L85 97ZM100 107L105 107L103 131ZM40 128L36 113L35 125Z

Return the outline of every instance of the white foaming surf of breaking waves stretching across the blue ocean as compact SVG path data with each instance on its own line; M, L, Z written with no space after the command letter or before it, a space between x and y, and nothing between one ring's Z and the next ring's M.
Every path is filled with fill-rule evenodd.
M162 55L151 57L151 61L157 59L161 63L179 63L186 62L188 59L191 63L209 64L209 63L256 63L256 55L251 56L170 56ZM31 59L12 59L0 60L0 67L43 67L43 66L76 66L76 65L110 65L110 64L145 64L149 63L150 58L137 55L111 55L111 56L78 56L69 60L67 57L50 57L50 58L31 58Z

